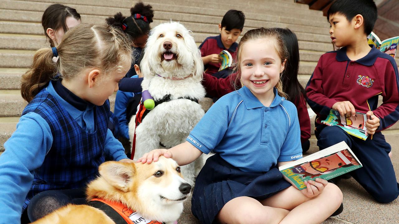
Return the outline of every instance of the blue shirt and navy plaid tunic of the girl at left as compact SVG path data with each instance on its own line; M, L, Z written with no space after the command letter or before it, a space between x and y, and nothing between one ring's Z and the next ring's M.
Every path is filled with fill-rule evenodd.
M105 156L127 158L107 128L109 101L95 106L61 81L51 81L22 112L0 157L0 216L19 223L30 199L40 192L84 187Z

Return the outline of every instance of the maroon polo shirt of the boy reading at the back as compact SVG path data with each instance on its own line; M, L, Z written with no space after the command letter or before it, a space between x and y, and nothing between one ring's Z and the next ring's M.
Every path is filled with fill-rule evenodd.
M229 51L233 59L235 60L235 51L237 50L238 43L233 43L229 49L226 49L223 46L222 39L220 34L215 37L207 37L201 45L199 45L199 50L201 51L201 57L205 57L207 55L219 54L223 50ZM212 75L216 73L220 68L221 63L208 63L205 65L206 73Z

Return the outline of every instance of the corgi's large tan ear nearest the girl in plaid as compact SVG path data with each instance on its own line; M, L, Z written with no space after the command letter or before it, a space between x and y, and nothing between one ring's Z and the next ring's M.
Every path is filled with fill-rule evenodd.
M127 192L129 189L128 183L132 181L136 174L136 166L134 163L109 161L100 165L99 173L109 184Z

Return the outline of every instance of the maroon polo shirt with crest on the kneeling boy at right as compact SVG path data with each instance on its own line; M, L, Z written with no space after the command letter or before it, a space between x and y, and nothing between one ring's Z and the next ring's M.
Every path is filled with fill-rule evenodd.
M333 104L348 100L357 112L373 111L381 131L399 119L398 80L393 57L372 46L365 57L351 61L343 47L320 57L306 86L308 104L317 114L316 124L321 124ZM377 107L380 95L383 104Z

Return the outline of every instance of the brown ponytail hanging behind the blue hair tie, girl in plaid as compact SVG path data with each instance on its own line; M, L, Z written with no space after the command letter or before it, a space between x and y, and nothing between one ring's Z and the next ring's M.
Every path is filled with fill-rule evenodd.
M36 51L30 69L22 75L22 98L30 102L43 86L54 77L55 73L57 73L57 67L53 62L51 48L42 48Z

